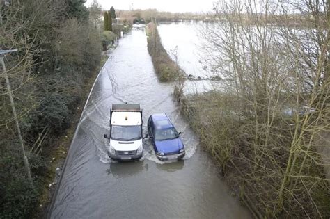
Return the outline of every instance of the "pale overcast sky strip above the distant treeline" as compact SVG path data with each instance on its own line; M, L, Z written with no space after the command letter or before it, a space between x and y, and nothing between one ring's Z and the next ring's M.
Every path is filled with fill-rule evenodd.
M208 12L212 10L213 2L217 0L97 0L103 9L148 9L156 8L159 11L171 12ZM87 0L90 6L93 0Z

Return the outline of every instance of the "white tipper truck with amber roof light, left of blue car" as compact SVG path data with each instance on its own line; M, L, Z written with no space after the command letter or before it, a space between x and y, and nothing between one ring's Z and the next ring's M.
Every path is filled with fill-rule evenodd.
M140 104L112 104L110 110L109 156L133 160L143 155L142 110Z

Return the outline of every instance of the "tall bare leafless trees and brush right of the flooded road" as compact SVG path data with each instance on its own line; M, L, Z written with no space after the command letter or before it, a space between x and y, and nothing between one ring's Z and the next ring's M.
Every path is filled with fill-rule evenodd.
M329 1L215 10L223 22L201 35L221 92L183 98L177 87L182 111L256 218L329 218Z

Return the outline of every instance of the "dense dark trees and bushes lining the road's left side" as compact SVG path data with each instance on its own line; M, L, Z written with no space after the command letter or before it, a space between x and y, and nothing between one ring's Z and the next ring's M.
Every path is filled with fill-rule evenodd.
M0 2L0 49L18 50L4 61L32 179L30 184L1 72L0 218L31 218L54 142L70 126L84 81L100 64L100 36L84 0Z

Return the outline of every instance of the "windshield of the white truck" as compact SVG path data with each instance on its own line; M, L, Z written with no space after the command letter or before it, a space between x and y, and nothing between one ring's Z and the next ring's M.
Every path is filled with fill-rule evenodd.
M111 128L112 140L139 140L141 139L141 126L119 126L113 125Z

